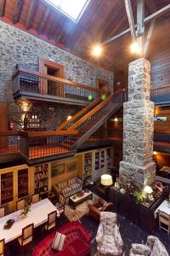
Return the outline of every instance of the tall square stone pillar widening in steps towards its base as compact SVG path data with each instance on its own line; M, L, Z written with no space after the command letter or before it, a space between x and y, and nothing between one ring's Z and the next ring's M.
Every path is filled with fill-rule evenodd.
M128 102L123 104L123 159L120 182L140 188L154 182L154 103L150 102L150 62L139 59L129 64Z

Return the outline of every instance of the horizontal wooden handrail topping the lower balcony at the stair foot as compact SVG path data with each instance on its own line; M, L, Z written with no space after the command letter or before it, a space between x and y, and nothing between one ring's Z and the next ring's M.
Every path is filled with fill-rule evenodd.
M69 131L19 131L20 136L24 137L52 137L52 136L65 136L65 135L76 135L77 130Z

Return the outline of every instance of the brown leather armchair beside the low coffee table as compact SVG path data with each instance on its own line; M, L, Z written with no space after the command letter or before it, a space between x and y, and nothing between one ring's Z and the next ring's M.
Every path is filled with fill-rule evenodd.
M112 202L107 202L102 198L99 198L93 205L89 204L89 214L92 218L99 222L100 212L109 212L113 206Z

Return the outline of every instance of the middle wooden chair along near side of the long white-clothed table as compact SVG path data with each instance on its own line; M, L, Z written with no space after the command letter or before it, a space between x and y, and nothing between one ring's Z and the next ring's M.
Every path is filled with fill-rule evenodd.
M22 236L18 238L21 247L24 247L33 241L34 224L29 224L22 229Z

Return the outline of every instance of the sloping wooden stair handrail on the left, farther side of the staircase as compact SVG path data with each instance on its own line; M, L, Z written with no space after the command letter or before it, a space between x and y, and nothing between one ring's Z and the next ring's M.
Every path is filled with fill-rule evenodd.
M70 125L75 119L77 119L78 117L80 117L82 115L82 113L87 112L88 109L93 108L95 106L95 104L97 102L100 101L100 97L98 97L94 102L92 102L91 104L89 104L87 107L82 108L82 110L80 110L79 112L77 112L75 115L73 115L73 117L71 117L71 119L66 120L62 125L59 125L56 129L56 131L60 131L62 129L65 128L66 125Z

